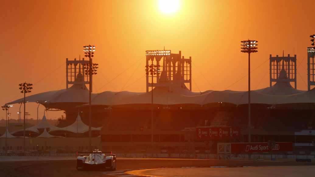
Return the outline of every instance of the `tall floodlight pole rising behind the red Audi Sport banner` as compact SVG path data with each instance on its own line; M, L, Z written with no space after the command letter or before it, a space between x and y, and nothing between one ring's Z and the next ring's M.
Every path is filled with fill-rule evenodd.
M258 52L257 49L257 42L256 40L244 40L241 41L241 52L248 53L248 142L251 142L251 123L250 123L250 53ZM249 160L251 160L251 157L249 155Z

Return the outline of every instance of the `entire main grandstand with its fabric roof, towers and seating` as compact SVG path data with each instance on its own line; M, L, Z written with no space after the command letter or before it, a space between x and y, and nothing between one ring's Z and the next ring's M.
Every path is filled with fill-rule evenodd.
M289 65L295 66L295 61L296 55L270 56L270 87L251 91L251 142L289 141L294 143L294 153L312 154L315 153L312 150L315 91L296 89L296 67L287 71ZM216 153L217 143L248 142L248 92L192 92L191 57L185 59L180 52L147 54L147 66L149 62L157 66L161 64L161 73L153 76L153 83L147 75L145 93L105 91L92 95L92 126L102 126L100 146L103 150L151 153L153 141L154 153L205 152L206 149ZM77 79L80 79L79 75ZM68 125L75 122L77 112L80 112L83 123L87 124L88 92L78 82L67 89L28 96L26 100L47 100L43 103L47 108L65 110ZM290 82L294 82L295 88ZM209 143L196 140L183 131L203 126L237 127L241 129L241 136ZM62 132L56 132L56 135L62 135ZM209 144L212 146L208 147Z

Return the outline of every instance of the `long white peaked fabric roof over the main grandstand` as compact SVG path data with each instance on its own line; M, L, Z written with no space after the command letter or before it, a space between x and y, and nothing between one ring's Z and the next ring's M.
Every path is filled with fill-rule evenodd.
M284 73L285 74L285 73ZM283 75L284 75L283 74ZM314 98L314 99L313 99ZM20 103L23 99L11 103ZM36 102L47 100L49 103L83 103L87 106L89 102L89 91L85 86L79 84L71 88L35 94L26 97L26 100ZM105 91L92 94L92 105L119 106L151 104L152 91L146 92L111 92ZM235 105L247 104L247 91L213 91L191 92L186 88L156 87L153 89L153 104L158 105L181 105L191 104L203 106L211 103L232 103ZM303 91L292 88L288 82L277 82L272 87L251 91L251 103L256 104L290 104L290 103L315 103L315 91ZM70 128L70 127L68 127ZM33 129L29 129L33 131ZM76 132L76 131L75 131Z

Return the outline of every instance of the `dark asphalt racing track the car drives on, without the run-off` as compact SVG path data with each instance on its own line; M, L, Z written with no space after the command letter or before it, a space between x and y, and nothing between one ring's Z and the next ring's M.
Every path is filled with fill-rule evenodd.
M207 166L305 166L315 163L296 162L269 162L269 161L243 161L243 160L195 160L195 159L150 159L150 158L117 158L117 172L127 169L139 168L181 168L181 167L207 167ZM14 177L54 177L54 176L111 176L103 171L77 171L76 160L46 160L46 161L7 161L0 162L0 174L2 176ZM228 170L249 169L249 168L224 168ZM315 168L315 167L314 167ZM162 169L163 170L163 169ZM233 176L238 174L233 173ZM281 171L280 171L281 172ZM279 172L279 173L280 173ZM283 171L285 173L285 171ZM281 174L281 173L280 173ZM313 173L315 174L315 173ZM312 174L312 175L313 175Z

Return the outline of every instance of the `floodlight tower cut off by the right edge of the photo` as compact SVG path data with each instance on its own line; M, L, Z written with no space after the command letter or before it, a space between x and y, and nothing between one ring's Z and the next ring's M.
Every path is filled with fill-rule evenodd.
M315 34L310 35L313 42L311 45L314 46ZM315 85L315 68L314 68L314 57L315 57L315 47L307 48L307 89L311 90L311 85ZM312 61L311 61L312 60Z

